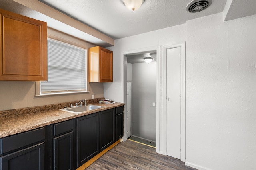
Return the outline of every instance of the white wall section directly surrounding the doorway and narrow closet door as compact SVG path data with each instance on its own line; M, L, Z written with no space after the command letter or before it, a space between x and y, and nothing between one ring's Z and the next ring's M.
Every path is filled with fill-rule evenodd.
M140 49L148 47L161 46L160 49L160 65L163 65L164 45L180 43L186 41L186 24L169 27L157 31L152 31L132 37L126 37L123 39L115 40L115 46L108 49L113 51L113 83L104 83L104 97L110 98L116 102L124 102L124 65L122 53L128 51L140 51ZM163 70L160 70L160 75L163 75ZM126 76L126 75L125 75ZM160 82L163 82L163 76L160 76ZM163 88L160 89L160 93L163 93ZM163 99L160 98L160 119L163 117ZM124 109L126 105L124 105ZM162 108L162 109L161 109ZM163 123L160 121L160 132L163 131ZM164 134L160 134L160 143L163 141ZM158 145L158 143L156 144ZM162 153L164 148L162 145L157 149L159 153Z

